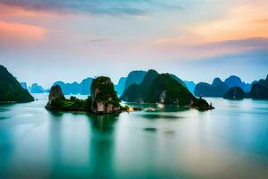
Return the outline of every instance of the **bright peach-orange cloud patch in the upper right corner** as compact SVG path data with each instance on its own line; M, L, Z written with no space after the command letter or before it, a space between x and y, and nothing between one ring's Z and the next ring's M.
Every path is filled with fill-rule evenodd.
M205 43L239 38L268 37L268 4L245 4L230 11L218 21L207 21L188 27Z

